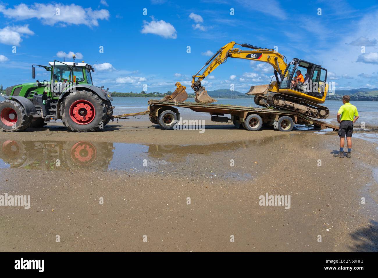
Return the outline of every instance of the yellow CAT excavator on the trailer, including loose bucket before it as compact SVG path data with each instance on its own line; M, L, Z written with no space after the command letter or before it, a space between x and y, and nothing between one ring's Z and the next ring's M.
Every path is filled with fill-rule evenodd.
M234 48L235 44L252 50ZM197 103L206 104L217 101L208 95L205 87L201 85L201 81L220 64L226 62L228 57L260 61L273 66L275 80L268 85L251 86L249 92L246 93L255 95L254 101L257 105L296 111L313 118L324 119L329 115L328 108L319 105L324 103L328 90L325 68L297 58L287 64L286 57L273 49L256 47L248 43L227 43L192 76L191 87L195 92ZM203 68L205 69L203 70ZM200 74L201 70L203 70L202 74ZM305 76L302 84L292 82L298 70ZM185 86L177 82L176 90L165 99L177 102L185 101L187 99L185 89Z

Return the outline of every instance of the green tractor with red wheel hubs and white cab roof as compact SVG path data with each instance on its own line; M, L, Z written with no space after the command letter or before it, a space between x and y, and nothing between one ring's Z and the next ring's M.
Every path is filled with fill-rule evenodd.
M14 85L5 89L0 102L0 129L8 132L43 127L62 120L68 130L89 132L101 129L112 119L112 95L104 86L92 83L91 65L75 62L49 62L32 65L50 71L50 80Z

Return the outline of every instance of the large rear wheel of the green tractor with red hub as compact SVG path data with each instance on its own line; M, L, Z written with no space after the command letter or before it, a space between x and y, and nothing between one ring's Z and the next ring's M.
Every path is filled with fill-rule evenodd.
M92 92L76 91L68 95L59 108L60 117L67 129L90 132L109 122L104 101Z

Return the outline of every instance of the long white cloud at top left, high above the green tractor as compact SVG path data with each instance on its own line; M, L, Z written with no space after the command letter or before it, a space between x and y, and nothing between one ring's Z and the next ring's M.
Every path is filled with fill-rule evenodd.
M59 10L57 10L59 9ZM59 14L57 12L59 11ZM106 9L92 10L75 4L64 5L60 3L34 3L33 5L19 4L14 8L6 8L0 5L0 12L5 17L15 20L36 18L46 25L54 25L58 22L68 25L84 24L87 26L98 26L98 20L108 19L110 14Z

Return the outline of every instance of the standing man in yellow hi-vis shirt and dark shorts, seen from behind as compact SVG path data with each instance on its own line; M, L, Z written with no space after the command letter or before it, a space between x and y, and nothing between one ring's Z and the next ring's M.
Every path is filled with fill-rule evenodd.
M358 112L356 106L350 104L349 101L350 96L343 96L342 103L344 103L344 105L341 106L337 112L337 121L340 123L340 151L338 154L333 155L335 157L344 158L344 138L346 136L348 143L347 158L350 158L350 151L352 150L353 124L358 119Z

